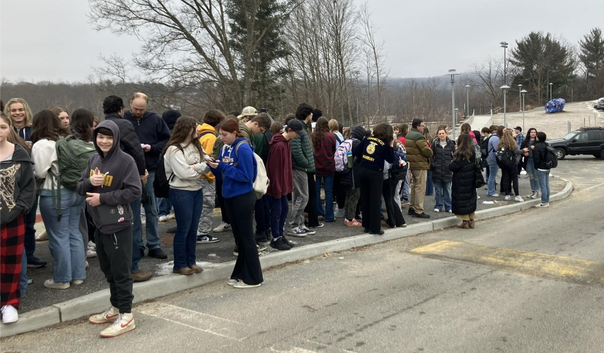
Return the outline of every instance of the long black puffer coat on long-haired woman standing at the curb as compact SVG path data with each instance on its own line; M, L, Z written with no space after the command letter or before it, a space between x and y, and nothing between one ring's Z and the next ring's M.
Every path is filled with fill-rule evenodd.
M473 153L469 161L454 159L449 164L449 169L453 172L451 204L456 215L467 215L476 211L475 161L476 156Z

